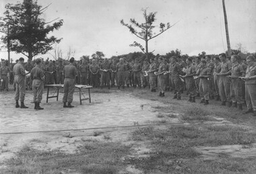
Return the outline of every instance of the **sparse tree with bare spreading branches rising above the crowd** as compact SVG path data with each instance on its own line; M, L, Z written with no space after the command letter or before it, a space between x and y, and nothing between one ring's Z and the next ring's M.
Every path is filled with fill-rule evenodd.
M139 28L139 30L141 30L141 32L137 32L137 30L135 30L135 28L133 28L132 25L125 24L123 19L121 19L121 24L123 26L126 26L127 28L129 28L129 30L132 34L134 34L141 40L145 41L145 45L146 45L145 48L143 48L143 46L136 41L134 41L133 44L131 44L130 46L138 46L146 54L146 58L148 58L148 55L149 55L148 41L152 40L153 38L156 38L157 36L159 36L160 34L165 32L166 30L170 29L172 26L174 26L177 23L173 24L172 26L170 26L170 23L167 23L167 24L160 23L160 26L159 26L160 32L158 34L155 34L155 33L153 33L153 29L156 28L156 26L153 26L153 23L154 23L154 21L156 21L156 18L155 18L156 12L154 12L154 13L150 12L148 14L147 9L142 9L142 11L143 11L143 17L145 19L144 23L139 24L137 21L135 21L135 19L130 19L131 24L133 26ZM152 52L154 52L154 51L152 51Z

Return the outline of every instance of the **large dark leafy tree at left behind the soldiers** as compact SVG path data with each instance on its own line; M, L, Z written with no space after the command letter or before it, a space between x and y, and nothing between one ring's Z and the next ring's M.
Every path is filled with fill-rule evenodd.
M11 51L22 53L32 59L33 56L45 54L53 49L53 44L61 42L61 38L47 37L50 32L59 30L63 25L62 19L50 25L56 19L46 22L40 18L48 7L49 5L42 7L37 1L32 0L5 5L5 17L1 17L5 25L1 28L9 26L9 35L3 37L3 42L10 41Z

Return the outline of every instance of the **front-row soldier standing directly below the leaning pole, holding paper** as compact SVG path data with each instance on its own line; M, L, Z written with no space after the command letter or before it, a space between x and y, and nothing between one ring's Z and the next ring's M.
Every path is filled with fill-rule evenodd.
M226 105L228 103L228 107L232 105L231 97L230 97L230 79L228 75L230 75L230 70L232 69L232 64L230 60L226 58L226 54L219 54L221 71L220 73L216 73L217 76L220 77L220 98L222 100L222 105Z

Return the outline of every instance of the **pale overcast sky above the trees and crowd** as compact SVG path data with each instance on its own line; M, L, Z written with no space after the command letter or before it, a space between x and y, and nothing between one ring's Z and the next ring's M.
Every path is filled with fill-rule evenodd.
M0 15L3 16L5 4L16 3L15 0L0 0ZM249 52L256 51L256 1L226 0L228 30L231 48L237 44ZM129 52L141 51L139 47L129 46L134 41L143 46L144 41L129 32L120 21L129 23L135 18L143 23L143 11L157 12L155 26L162 22L175 26L150 40L149 51L154 54L166 54L177 48L182 54L197 55L202 51L207 54L220 54L227 50L226 32L222 0L38 0L38 4L49 8L42 17L51 21L57 17L63 19L63 26L50 33L63 38L57 45L67 56L69 49L79 59L83 55L92 55L101 51L106 58ZM154 30L156 34L158 28ZM50 51L53 54L53 51ZM37 57L53 58L47 53ZM11 52L13 60L22 54ZM1 58L7 58L7 52L1 50ZM26 58L26 57L25 57Z

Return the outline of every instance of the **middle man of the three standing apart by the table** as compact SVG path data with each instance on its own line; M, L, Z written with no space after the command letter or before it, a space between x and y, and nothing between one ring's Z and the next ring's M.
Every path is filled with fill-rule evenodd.
M34 109L43 110L40 107L40 102L42 101L42 92L44 91L44 72L42 71L42 61L40 59L36 60L36 67L31 70L30 79L32 80L32 90L34 95Z

